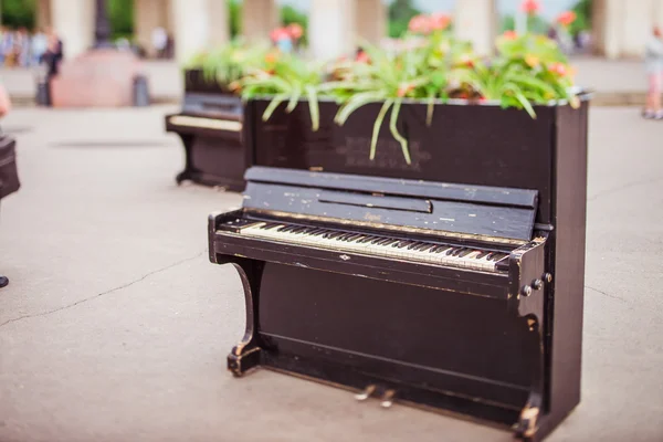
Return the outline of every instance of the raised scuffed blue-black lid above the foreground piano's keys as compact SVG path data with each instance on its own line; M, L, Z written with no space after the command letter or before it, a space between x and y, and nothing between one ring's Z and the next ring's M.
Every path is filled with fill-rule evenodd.
M252 167L245 209L487 241L529 241L536 190Z

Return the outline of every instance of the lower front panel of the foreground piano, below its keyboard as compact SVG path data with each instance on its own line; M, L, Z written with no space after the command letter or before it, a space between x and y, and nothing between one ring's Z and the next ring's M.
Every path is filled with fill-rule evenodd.
M269 352L318 346L316 359L343 354L347 368L431 389L513 407L527 398L538 341L503 302L272 263L261 287Z

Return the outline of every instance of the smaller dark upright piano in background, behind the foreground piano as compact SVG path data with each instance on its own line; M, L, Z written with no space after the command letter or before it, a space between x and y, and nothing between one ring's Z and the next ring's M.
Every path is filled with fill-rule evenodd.
M250 157L242 144L242 103L224 85L206 80L200 70L186 71L182 110L166 116L166 130L178 134L185 146L178 183L244 188Z

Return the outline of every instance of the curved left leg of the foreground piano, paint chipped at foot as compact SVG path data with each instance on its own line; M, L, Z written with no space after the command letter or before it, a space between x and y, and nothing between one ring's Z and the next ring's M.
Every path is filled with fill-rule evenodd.
M261 348L257 345L257 296L262 278L263 263L236 259L232 262L240 274L244 287L246 308L246 328L242 340L228 355L228 369L235 377L243 376L250 369L260 365Z

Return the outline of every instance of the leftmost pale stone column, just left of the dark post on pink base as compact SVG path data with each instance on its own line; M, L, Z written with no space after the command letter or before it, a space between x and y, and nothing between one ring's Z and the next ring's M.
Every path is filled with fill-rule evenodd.
M94 42L94 0L51 0L51 20L62 39L65 59L90 49Z

